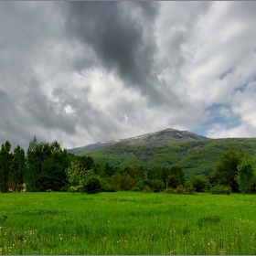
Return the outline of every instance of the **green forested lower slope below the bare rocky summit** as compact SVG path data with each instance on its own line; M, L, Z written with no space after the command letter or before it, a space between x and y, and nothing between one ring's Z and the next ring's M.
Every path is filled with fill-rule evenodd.
M238 151L244 150L255 159L256 138L208 139L162 145L115 144L80 155L90 155L95 163L104 162L121 168L141 165L150 170L154 166L181 166L188 177L208 175L231 146Z

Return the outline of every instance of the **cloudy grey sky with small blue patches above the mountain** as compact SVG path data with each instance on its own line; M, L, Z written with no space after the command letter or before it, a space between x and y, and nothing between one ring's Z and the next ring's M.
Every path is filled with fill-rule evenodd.
M0 2L0 144L166 128L256 136L256 2Z

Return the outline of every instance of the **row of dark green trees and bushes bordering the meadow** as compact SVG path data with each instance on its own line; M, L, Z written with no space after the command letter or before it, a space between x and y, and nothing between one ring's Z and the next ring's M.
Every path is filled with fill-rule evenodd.
M19 145L11 152L6 141L0 150L0 191L100 191L132 190L144 192L197 191L212 193L254 193L256 178L252 159L244 152L230 148L221 156L208 176L185 179L180 166L143 166L121 169L105 163L94 163L91 156L69 154L55 141L37 142L35 136L25 150Z

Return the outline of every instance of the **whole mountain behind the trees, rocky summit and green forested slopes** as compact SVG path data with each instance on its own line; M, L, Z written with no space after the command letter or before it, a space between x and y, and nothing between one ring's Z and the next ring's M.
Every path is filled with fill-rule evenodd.
M219 158L233 146L256 159L256 138L208 139L207 137L166 129L123 140L101 142L69 150L76 155L90 155L95 163L108 163L125 168L129 165L183 167L186 177L213 170ZM255 165L255 163L254 163ZM256 165L255 165L256 167Z

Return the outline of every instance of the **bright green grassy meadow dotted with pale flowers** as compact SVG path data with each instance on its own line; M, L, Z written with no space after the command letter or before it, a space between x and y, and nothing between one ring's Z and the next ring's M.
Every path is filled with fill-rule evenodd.
M0 254L256 254L255 199L0 194Z

